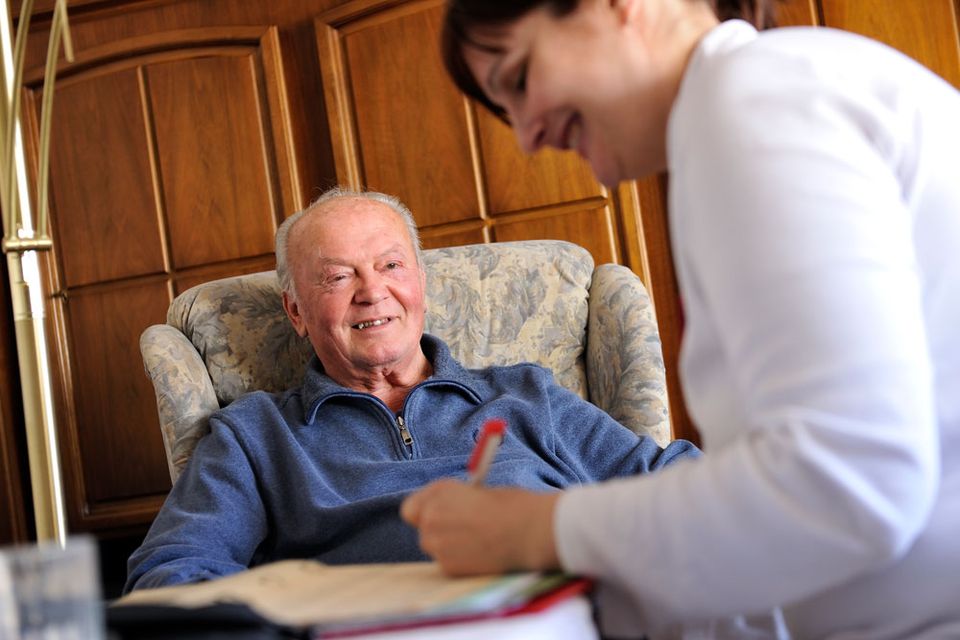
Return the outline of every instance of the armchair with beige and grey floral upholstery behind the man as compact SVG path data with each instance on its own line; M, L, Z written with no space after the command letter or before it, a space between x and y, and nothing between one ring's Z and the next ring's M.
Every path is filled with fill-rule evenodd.
M431 249L423 260L426 331L464 365L537 362L630 429L669 439L656 322L629 269L594 270L585 249L553 240ZM174 480L212 412L247 391L297 385L312 355L283 312L273 271L185 291L140 349Z

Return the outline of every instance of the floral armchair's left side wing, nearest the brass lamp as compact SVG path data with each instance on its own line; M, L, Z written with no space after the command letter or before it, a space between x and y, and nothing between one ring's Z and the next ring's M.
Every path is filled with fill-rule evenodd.
M176 482L197 441L210 430L210 414L220 406L200 354L179 330L147 327L140 336L140 354L157 395L170 479Z

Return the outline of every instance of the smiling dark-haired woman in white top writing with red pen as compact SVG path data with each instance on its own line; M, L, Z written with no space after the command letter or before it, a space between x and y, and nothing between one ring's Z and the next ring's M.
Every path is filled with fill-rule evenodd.
M448 69L527 151L669 171L706 456L553 495L446 481L403 515L451 573L596 576L614 635L782 606L800 638L960 637L960 95L717 4L450 2Z

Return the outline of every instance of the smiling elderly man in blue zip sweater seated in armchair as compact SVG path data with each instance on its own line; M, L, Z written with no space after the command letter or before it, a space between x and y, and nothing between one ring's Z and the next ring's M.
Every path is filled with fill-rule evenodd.
M283 307L316 357L299 388L215 414L143 545L125 591L284 558L426 559L403 498L462 476L480 426L509 431L488 482L550 491L697 455L661 449L530 364L467 370L424 335L417 229L396 199L325 193L277 231Z

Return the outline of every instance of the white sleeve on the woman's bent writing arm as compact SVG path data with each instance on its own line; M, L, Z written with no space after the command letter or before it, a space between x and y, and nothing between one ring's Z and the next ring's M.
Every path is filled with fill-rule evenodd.
M762 82L719 75L686 97L702 106L671 163L684 350L724 378L685 372L706 456L572 490L556 513L564 567L628 592L647 630L889 563L937 491L921 277L891 168L909 121L864 87L759 66L730 73ZM734 397L714 403L715 387Z

